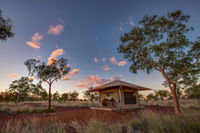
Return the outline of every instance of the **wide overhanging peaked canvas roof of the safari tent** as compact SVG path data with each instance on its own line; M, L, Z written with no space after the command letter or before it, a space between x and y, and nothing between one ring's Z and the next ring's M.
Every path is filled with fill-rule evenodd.
M104 85L94 87L93 89L88 90L88 91L89 92L99 92L101 90L112 88L112 87L117 87L117 86L126 86L130 89L135 89L135 90L138 90L138 91L151 90L150 88L139 86L139 85L132 84L132 83L128 83L128 82L125 82L125 81L114 80L114 81L106 83Z

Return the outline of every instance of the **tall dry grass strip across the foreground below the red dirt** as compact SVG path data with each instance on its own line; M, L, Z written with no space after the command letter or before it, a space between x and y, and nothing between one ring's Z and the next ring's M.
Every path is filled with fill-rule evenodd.
M124 123L109 124L103 121L90 120L87 123L73 121L61 123L40 122L37 118L30 120L9 121L0 128L0 133L199 133L200 111L190 110L183 115L143 111L140 119Z

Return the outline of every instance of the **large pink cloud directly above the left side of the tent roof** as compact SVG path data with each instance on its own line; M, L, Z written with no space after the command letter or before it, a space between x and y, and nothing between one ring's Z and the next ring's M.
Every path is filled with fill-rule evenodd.
M113 80L119 80L122 77L123 77L122 75L118 75L118 76L111 77L108 79L102 79L101 77L99 77L99 75L88 75L85 77L84 80L81 80L77 84L75 84L75 86L78 88L89 88L89 87L105 84Z

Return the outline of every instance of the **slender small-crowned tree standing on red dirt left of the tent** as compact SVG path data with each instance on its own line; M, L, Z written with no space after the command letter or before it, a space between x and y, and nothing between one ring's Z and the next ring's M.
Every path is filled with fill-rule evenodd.
M49 86L48 109L51 109L51 87L55 81L62 79L69 71L68 60L60 58L52 64L47 64L36 59L29 59L24 63L30 76L34 76Z

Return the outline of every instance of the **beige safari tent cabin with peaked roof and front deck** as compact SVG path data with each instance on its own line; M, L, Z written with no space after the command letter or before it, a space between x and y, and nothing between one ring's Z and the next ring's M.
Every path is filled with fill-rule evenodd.
M139 108L138 92L145 90L151 89L121 80L97 86L88 92L99 93L100 106L91 107L91 109L117 111Z

